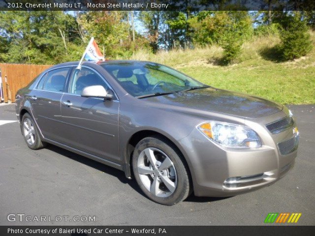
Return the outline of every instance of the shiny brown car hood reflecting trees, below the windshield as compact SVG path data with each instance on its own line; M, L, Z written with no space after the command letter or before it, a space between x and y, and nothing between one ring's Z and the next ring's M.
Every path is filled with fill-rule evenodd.
M206 88L169 95L142 98L148 102L218 112L245 118L269 116L282 111L283 105L263 98L223 89Z

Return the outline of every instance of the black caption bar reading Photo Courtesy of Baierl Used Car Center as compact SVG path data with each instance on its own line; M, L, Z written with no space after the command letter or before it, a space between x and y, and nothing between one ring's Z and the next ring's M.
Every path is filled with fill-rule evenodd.
M0 226L0 236L313 236L315 226Z

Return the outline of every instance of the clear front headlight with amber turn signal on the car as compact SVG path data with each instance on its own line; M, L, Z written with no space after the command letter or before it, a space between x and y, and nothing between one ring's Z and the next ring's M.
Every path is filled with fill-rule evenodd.
M197 129L207 138L227 148L258 148L261 142L255 131L243 125L206 121Z

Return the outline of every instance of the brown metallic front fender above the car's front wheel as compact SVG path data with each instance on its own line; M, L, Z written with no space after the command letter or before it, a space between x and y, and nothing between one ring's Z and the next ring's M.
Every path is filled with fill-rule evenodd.
M192 167L196 161L196 155L191 155L189 145L191 142L182 142L190 133L197 131L196 125L205 120L221 120L244 124L245 119L231 117L229 115L213 112L204 112L178 106L167 106L164 104L152 104L143 99L137 99L126 95L121 99L119 115L119 137L120 153L124 157L122 163L126 166L126 176L129 174L129 158L127 147L130 138L138 131L149 130L158 132L171 140L184 155L192 178L195 177L195 168ZM195 140L198 142L198 140ZM209 141L207 144L211 145ZM189 154L188 154L189 153Z

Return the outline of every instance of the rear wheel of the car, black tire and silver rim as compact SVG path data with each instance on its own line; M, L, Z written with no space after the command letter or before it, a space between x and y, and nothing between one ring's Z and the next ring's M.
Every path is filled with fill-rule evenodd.
M38 150L46 146L46 143L41 141L35 122L29 113L25 113L22 118L22 134L29 148Z

